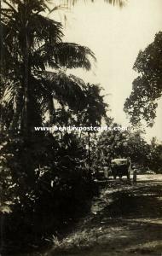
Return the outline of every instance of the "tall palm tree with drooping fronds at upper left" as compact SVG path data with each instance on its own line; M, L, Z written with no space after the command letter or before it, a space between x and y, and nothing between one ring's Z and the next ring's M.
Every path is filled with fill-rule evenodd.
M55 111L54 101L73 105L83 99L84 82L70 75L67 68L90 70L94 53L87 47L62 42L60 22L45 16L44 0L3 0L3 116L10 128L26 134L33 124L40 125L43 114ZM57 8L55 8L57 9ZM55 72L49 72L49 68ZM7 110L6 110L7 109Z

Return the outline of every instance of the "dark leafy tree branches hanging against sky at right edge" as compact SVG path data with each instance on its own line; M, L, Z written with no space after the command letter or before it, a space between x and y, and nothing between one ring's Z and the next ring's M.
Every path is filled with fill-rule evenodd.
M139 76L133 81L132 92L124 102L124 111L130 115L133 125L144 119L153 126L157 100L162 96L162 32L158 32L153 43L139 52L133 68Z

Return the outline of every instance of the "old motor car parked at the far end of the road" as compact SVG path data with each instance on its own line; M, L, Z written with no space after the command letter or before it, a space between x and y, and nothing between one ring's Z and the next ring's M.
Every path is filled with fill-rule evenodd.
M130 165L130 159L117 158L111 160L111 170L113 178L115 179L117 176L119 178L126 176L128 179L130 179Z

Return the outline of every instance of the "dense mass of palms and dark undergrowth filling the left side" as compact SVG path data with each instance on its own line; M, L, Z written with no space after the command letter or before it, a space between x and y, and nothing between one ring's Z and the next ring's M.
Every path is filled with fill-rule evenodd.
M62 41L61 23L49 19L46 3L3 0L1 9L0 209L8 249L12 242L38 243L65 228L94 193L78 133L34 131L34 126L82 125L90 119L90 106L100 108L93 117L98 122L106 113L99 87L66 72L90 70L95 55Z

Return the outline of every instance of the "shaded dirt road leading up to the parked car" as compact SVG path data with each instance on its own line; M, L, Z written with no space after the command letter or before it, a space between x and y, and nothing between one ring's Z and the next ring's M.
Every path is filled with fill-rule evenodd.
M92 213L46 256L162 255L162 175L110 181Z

